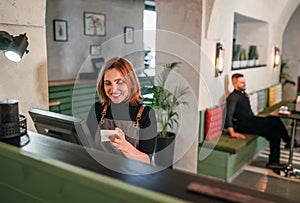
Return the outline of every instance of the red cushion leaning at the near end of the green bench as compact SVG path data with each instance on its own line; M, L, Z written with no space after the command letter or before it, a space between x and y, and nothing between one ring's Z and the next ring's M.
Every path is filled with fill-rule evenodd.
M222 107L218 106L205 111L205 139L212 140L222 134Z

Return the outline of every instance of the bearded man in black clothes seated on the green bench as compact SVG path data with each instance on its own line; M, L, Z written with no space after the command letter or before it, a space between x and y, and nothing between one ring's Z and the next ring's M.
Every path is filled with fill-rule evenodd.
M225 128L231 137L245 139L241 133L258 134L265 137L270 143L269 162L266 167L273 170L281 170L286 167L281 164L280 141L286 142L286 147L290 146L288 132L278 117L258 117L254 116L248 95L245 93L246 83L242 74L232 75L233 92L227 98L227 111ZM295 147L299 145L295 142Z

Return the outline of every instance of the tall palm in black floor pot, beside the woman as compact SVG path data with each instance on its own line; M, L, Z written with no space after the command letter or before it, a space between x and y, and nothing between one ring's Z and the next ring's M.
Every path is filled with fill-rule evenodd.
M161 166L172 165L176 136L174 128L178 125L179 119L177 108L180 105L187 105L187 101L184 99L184 96L188 93L187 87L176 85L173 90L166 88L171 71L177 68L178 65L179 62L166 64L163 71L156 75L155 80L150 80L153 99L148 105L152 106L156 112L159 128L155 147L155 163ZM147 74L145 75L147 76Z

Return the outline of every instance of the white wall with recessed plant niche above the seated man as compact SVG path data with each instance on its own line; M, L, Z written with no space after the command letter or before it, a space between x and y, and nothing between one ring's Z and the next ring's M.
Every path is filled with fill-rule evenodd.
M204 1L204 7L208 1ZM279 69L272 67L274 46L281 49L284 28L299 2L299 0L232 0L230 2L215 0L211 16L204 14L202 25L208 30L202 32L201 48L204 51L201 52L201 58L207 58L207 60L201 60L200 66L200 73L205 81L204 85L202 82L200 83L199 109L220 104L224 100L224 95L232 91L230 78L236 72L245 75L248 92L278 83ZM264 44L266 67L231 70L234 12L262 20L268 24L268 39ZM204 24L207 18L210 18L209 25ZM221 77L215 78L213 75L217 42L221 42L225 47L225 60L224 72ZM207 69L207 67L211 67L211 69ZM210 99L207 98L207 95L210 95Z

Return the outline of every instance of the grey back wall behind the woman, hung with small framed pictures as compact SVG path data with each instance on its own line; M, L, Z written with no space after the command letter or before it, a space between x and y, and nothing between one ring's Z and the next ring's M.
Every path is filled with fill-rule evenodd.
M92 72L92 58L126 56L141 68L144 64L143 28L144 0L49 0L47 1L47 50L49 81L74 79L79 72ZM84 35L83 13L105 15L105 36ZM66 20L68 41L53 40L53 20ZM134 43L124 43L124 27L133 27ZM101 45L101 53L90 55L91 45Z

